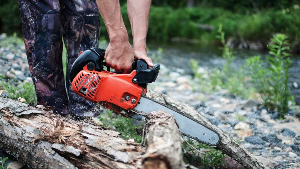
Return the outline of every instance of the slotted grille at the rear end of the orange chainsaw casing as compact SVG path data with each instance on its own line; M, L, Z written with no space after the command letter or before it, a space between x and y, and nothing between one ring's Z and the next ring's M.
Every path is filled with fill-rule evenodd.
M100 80L101 78L97 72L80 72L80 74L76 77L74 84L77 91L81 94L85 94L87 98L94 99Z

